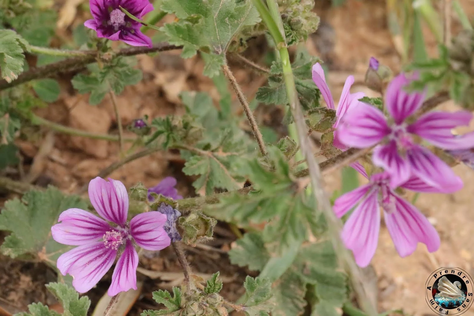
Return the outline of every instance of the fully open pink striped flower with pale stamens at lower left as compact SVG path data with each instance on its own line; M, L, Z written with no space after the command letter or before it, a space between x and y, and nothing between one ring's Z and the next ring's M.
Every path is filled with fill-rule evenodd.
M137 289L138 254L135 244L146 250L162 250L170 245L164 231L166 215L160 212L138 214L127 222L127 189L120 181L100 177L89 183L89 198L103 219L78 208L70 208L51 228L56 242L79 246L62 254L57 267L73 276L79 293L90 290L113 265L120 253L110 284L109 296ZM108 223L107 221L111 222Z

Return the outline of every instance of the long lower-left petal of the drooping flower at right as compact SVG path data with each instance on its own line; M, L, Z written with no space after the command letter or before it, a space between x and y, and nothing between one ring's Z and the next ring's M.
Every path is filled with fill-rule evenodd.
M346 247L354 253L359 267L366 267L374 257L380 231L378 192L369 194L347 220L341 232Z

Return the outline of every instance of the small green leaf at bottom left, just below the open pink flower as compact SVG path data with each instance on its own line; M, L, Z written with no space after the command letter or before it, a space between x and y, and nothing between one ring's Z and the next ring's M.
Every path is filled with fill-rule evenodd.
M61 283L49 283L46 288L61 302L64 307L63 316L87 316L91 306L89 297L79 297L74 288Z

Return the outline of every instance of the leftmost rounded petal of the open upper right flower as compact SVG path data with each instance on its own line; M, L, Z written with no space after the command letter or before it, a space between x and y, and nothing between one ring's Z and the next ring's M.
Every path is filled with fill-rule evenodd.
M337 127L338 139L355 148L373 146L390 131L383 113L363 102L347 111Z

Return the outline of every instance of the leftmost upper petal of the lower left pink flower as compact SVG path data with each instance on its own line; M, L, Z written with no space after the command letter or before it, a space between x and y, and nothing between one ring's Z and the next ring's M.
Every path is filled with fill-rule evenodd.
M95 242L110 230L103 219L87 211L70 208L59 215L58 224L51 227L53 239L64 245L81 246Z

